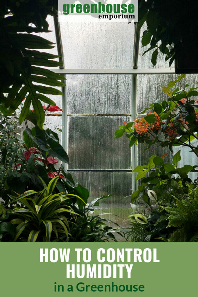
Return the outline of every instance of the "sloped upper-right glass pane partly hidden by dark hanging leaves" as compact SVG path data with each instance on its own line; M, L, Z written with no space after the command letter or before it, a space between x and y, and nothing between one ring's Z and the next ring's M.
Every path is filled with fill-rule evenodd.
M141 31L140 31L140 37L142 37L143 32L147 29L147 25L146 23L142 26ZM158 45L160 45L161 42L158 43ZM138 56L138 68L153 68L153 64L151 63L151 56L152 53L154 52L154 50L156 50L156 48L154 48L153 50L148 51L147 53L143 55L143 53L148 50L148 48L150 48L150 43L148 45L146 45L145 47L142 47L142 38L140 38L140 48L139 48L139 56ZM154 68L167 68L169 69L169 60L165 61L165 56L161 53L160 50L158 50L159 54L157 57L157 63L154 66ZM175 64L174 62L171 65L171 68L174 68Z

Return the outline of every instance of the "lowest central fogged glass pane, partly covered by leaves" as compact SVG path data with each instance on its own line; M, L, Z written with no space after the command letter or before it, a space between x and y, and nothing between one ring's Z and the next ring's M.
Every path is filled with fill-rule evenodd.
M115 215L103 217L117 222L121 227L126 227L124 219L131 213L130 202L132 194L131 172L71 172L74 181L87 188L90 192L89 201L94 198L112 194L110 198L99 201L99 209L94 214L108 212Z

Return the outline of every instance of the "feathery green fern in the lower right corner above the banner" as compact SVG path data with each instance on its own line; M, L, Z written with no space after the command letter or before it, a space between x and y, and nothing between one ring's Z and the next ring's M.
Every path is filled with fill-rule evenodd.
M188 194L174 196L174 206L161 206L169 213L168 227L175 227L170 241L198 240L198 184L188 185Z

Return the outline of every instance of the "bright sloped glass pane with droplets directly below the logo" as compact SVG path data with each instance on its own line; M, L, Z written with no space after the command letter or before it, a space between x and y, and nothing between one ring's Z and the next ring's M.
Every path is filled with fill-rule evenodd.
M61 23L65 68L132 68L134 23Z

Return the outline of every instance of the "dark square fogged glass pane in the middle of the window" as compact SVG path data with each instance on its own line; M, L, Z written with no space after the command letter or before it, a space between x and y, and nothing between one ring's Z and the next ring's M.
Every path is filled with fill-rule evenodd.
M128 138L114 139L119 116L68 116L69 169L130 169Z

